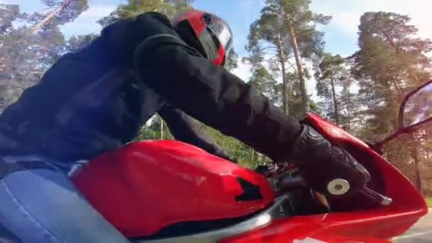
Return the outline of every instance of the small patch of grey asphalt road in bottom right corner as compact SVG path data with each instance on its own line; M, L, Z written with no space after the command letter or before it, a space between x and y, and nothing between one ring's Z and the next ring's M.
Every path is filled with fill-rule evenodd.
M432 208L419 222L400 237L394 238L396 243L431 243L432 242Z

